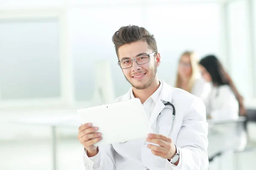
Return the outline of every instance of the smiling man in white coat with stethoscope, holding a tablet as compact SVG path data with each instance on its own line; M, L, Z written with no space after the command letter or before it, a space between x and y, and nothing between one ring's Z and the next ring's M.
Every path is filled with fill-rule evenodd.
M207 170L208 124L203 102L158 80L157 67L161 58L154 36L145 28L121 27L112 39L118 64L132 86L116 102L140 99L154 132L148 134L146 141L158 146L138 139L94 147L102 137L96 132L97 127L88 122L79 127L78 134L84 146L86 170ZM175 106L174 121L174 109L164 109L167 102Z

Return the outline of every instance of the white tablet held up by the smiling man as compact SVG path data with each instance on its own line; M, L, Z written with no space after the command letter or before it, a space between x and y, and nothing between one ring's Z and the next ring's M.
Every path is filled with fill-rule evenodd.
M102 140L94 146L145 139L148 133L152 133L140 99L85 108L77 113L82 124L92 123L99 127Z

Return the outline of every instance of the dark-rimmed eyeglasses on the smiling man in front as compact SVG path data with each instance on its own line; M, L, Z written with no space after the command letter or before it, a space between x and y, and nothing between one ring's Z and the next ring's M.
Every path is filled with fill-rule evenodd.
M143 55L143 56L139 56L139 57L136 57L135 59L125 59L123 61L118 61L118 65L122 69L131 68L133 61L135 61L138 65L143 65L143 64L149 62L149 57L154 54L156 54L156 52L147 54L147 55Z

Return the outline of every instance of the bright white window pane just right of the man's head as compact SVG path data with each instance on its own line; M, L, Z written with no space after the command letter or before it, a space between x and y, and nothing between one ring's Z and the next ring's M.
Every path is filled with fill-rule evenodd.
M160 79L174 85L178 59L185 50L201 58L220 54L219 6L209 4L175 4L148 6L146 28L157 40L161 54Z

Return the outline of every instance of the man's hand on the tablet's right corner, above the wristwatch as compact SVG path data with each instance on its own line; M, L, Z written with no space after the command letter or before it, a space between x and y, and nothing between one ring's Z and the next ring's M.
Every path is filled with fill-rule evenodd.
M160 145L155 146L152 144L148 144L148 148L151 149L151 152L154 155L160 156L163 159L172 159L172 157L176 153L176 147L173 144L172 139L167 136L149 133L146 141Z

